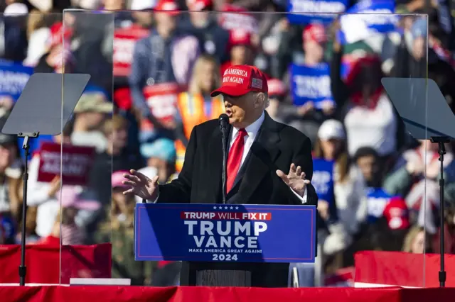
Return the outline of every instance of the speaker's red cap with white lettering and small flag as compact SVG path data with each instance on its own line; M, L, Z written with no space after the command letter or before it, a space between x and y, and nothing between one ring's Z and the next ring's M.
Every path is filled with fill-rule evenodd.
M268 92L265 74L257 67L250 65L233 65L225 70L223 84L212 91L211 96L228 94L229 96L242 96L250 91Z

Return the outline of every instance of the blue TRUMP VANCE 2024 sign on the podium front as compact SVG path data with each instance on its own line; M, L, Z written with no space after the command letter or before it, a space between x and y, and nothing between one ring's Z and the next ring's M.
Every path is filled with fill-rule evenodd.
M138 203L138 261L314 262L316 206Z

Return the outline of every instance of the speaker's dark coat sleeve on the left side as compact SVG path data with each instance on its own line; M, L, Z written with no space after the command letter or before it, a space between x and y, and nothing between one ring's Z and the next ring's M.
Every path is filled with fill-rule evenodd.
M169 184L159 186L159 203L188 203L191 198L191 184L193 182L193 162L196 157L197 140L196 128L191 131L190 140L185 152L185 162L178 178Z

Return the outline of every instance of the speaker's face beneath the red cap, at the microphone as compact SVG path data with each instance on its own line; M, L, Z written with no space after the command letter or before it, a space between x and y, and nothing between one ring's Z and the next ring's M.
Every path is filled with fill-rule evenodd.
M226 114L229 117L229 123L235 128L245 128L255 121L255 101L252 99L252 93L243 96L228 96L223 94Z

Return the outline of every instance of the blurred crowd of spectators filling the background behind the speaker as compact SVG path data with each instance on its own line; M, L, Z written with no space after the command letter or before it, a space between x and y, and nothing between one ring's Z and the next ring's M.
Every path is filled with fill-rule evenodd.
M344 11L375 4L350 2ZM20 214L21 142L0 134L0 242L20 242L23 223L29 244L59 244L60 236L64 245L112 242L113 277L132 279L132 284L176 284L178 262L134 261L133 216L139 200L122 194L122 175L138 169L158 175L160 183L178 177L192 128L224 111L223 97L210 97L223 72L232 65L255 65L268 77L269 116L301 130L313 143L324 272L353 266L360 250L439 252L437 145L406 132L381 78L428 76L453 109L453 22L437 1L396 1L392 12L402 15L376 16L376 21L360 14L291 18L287 3L1 4L2 75L75 72L91 79L62 134L33 141L26 221ZM62 13L71 8L92 11ZM8 89L6 77L0 83L4 123L18 95ZM87 181L65 184L59 176L43 181L43 142L92 147ZM452 253L451 143L446 150L444 228L446 252Z

